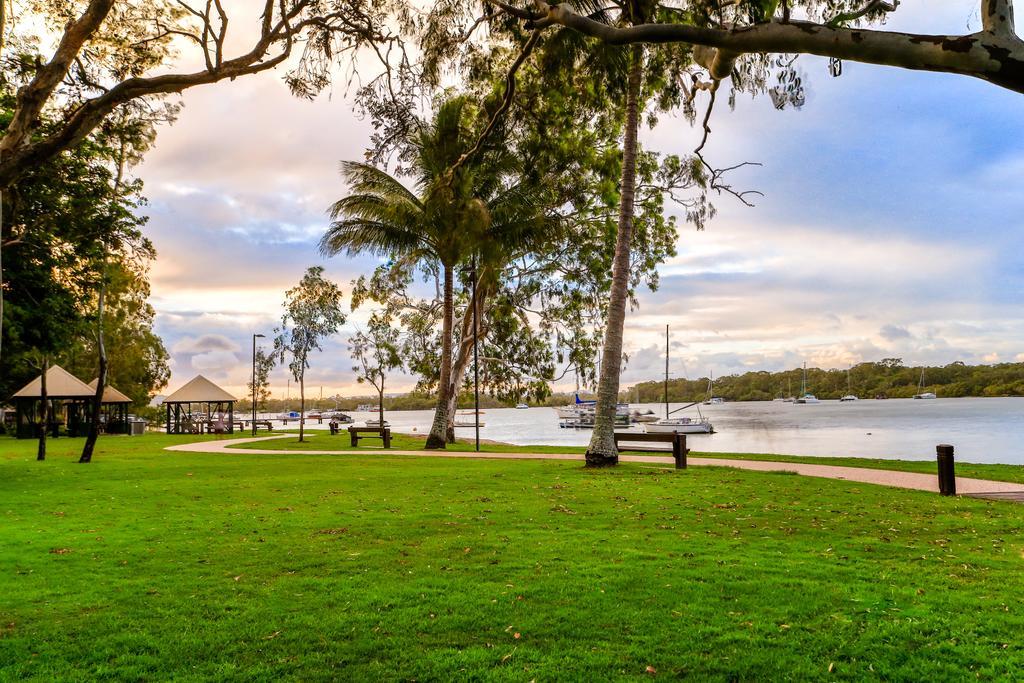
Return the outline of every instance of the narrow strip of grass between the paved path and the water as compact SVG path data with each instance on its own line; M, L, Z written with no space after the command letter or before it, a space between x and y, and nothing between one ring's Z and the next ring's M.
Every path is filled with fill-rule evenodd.
M288 433L291 433L289 430ZM295 432L296 435L298 432ZM266 436L266 432L260 432L260 436ZM419 450L423 447L425 436L411 434L393 434L391 447L396 450ZM307 440L299 442L298 438L275 439L263 441L258 444L240 443L238 449L266 449L273 451L343 451L350 452L352 447L347 433L331 436L329 432L314 431ZM691 440L690 445L698 445L698 440ZM358 445L359 451L379 451L380 440L366 440ZM461 439L447 447L449 451L468 452L474 450L472 439ZM583 457L584 450L577 446L552 446L552 445L513 445L489 441L481 443L480 450L489 453L575 453ZM643 455L643 454L630 454ZM666 455L671 455L666 452ZM836 465L837 467L868 467L880 470L898 470L901 472L923 472L925 474L937 474L937 465L934 460L883 460L880 458L815 458L813 456L774 456L771 454L753 453L703 453L691 451L690 456L694 458L725 458L736 460L770 460L781 463L811 463L815 465ZM976 463L956 463L956 474L965 477L975 477L978 479L992 479L994 481L1016 481L1024 483L1024 467L1020 465L981 465Z

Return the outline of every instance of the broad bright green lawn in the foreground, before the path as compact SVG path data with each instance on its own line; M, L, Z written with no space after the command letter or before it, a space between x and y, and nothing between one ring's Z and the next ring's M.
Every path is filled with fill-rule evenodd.
M317 436L316 438L321 438ZM1017 678L1024 506L0 438L0 680ZM314 439L315 440L315 439Z

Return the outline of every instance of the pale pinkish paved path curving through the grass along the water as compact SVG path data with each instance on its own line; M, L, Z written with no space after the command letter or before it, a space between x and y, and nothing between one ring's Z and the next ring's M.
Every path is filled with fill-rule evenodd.
M487 460L581 460L581 456L575 454L559 453L473 453L455 451L399 451L374 450L374 451L273 451L270 449L229 449L230 445L239 443L258 443L275 438L288 438L295 434L280 434L276 436L262 436L246 438L232 438L222 441L197 441L195 443L182 443L180 445L168 446L167 451L186 451L189 453L226 453L231 455L258 454L258 455L281 455L284 453L301 453L307 456L337 456L358 453L367 456L414 456L420 458L483 458ZM620 456L618 459L627 463L650 463L673 465L671 456ZM741 470L757 470L761 472L796 472L804 476L823 477L826 479L843 479L845 481L856 481L858 483L873 483L882 486L895 486L898 488L913 488L916 490L931 490L938 493L939 482L937 474L921 474L918 472L897 472L895 470L874 470L864 467L838 467L835 465L812 465L807 463L779 463L762 460L728 460L724 458L687 458L690 465L707 467L735 467ZM998 500L1020 500L1024 499L1024 484L1012 483L1009 481L989 481L988 479L972 479L969 477L956 477L956 493L965 496L985 497L988 494L994 495Z

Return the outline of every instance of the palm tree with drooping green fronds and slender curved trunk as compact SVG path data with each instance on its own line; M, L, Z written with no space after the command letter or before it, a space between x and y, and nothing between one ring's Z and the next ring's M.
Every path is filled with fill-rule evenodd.
M410 140L412 176L417 193L397 178L369 164L343 162L342 176L351 194L331 207L333 222L321 240L327 255L372 253L434 264L442 280L441 359L437 409L427 438L428 449L445 445L452 377L455 317L455 268L479 244L489 224L480 199L493 183L493 169L476 162L456 161L475 139L466 125L468 101L457 97L443 103L435 120Z

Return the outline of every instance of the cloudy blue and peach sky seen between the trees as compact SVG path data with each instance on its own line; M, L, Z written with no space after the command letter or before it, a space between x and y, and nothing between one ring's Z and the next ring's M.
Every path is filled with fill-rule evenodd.
M963 33L977 0L908 0L889 27ZM712 122L706 156L762 164L733 180L755 208L717 198L719 216L683 226L662 287L627 322L624 382L675 376L907 362L1024 360L1024 106L963 77L801 57L808 100L776 112L740 97ZM371 125L344 92L292 97L273 73L185 93L176 124L135 169L151 200L157 330L169 390L197 373L244 393L252 334L269 336L284 291L323 264L350 289L373 259L324 260L326 209L344 194L338 162L359 159ZM686 154L697 133L664 117L643 143ZM357 318L353 318L357 324ZM312 359L307 385L365 393L345 349L349 326ZM410 378L397 379L395 390ZM286 376L273 376L274 395ZM294 393L293 393L294 395Z

